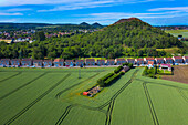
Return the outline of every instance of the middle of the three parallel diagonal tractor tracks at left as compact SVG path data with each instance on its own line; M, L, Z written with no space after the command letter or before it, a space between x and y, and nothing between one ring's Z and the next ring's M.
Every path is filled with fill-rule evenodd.
M3 100L3 98L6 98L6 97L8 97L8 96L10 96L11 94L18 92L19 90L25 87L27 85L31 84L32 82L39 80L40 77L44 76L46 73L48 73L48 72L45 72L45 73L39 75L38 77L35 77L35 79L31 80L30 82L28 82L28 83L25 83L25 84L19 86L18 88L15 88L15 90L13 90L13 91L7 93L6 95L3 95L3 96L0 97L0 101Z

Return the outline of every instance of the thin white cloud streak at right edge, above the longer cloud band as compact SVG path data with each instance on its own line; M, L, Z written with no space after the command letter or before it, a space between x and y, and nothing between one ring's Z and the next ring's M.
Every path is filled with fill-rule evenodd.
M149 9L148 11L169 11L169 10L188 12L188 7L154 8L154 9Z

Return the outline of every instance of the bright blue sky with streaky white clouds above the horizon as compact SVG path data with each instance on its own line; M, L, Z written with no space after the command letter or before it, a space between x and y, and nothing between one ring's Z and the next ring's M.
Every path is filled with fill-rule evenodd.
M0 22L112 24L139 18L152 25L188 25L187 0L0 0Z

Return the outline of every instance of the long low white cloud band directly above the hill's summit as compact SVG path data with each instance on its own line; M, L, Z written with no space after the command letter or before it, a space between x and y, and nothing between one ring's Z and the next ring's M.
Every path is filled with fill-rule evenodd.
M88 21L88 22L103 22L106 23L114 21L118 19L126 19L136 17L139 19L170 19L175 17L186 17L188 13L181 13L180 11L168 11L168 12L146 12L146 13L125 13L125 12L106 12L106 13L90 13L90 14L80 14L75 17L82 17L80 18L80 21Z

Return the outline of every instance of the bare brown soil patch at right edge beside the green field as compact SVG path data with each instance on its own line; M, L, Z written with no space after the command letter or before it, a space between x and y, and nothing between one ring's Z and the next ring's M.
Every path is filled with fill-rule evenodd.
M174 75L164 75L163 79L188 84L188 66L174 66Z

